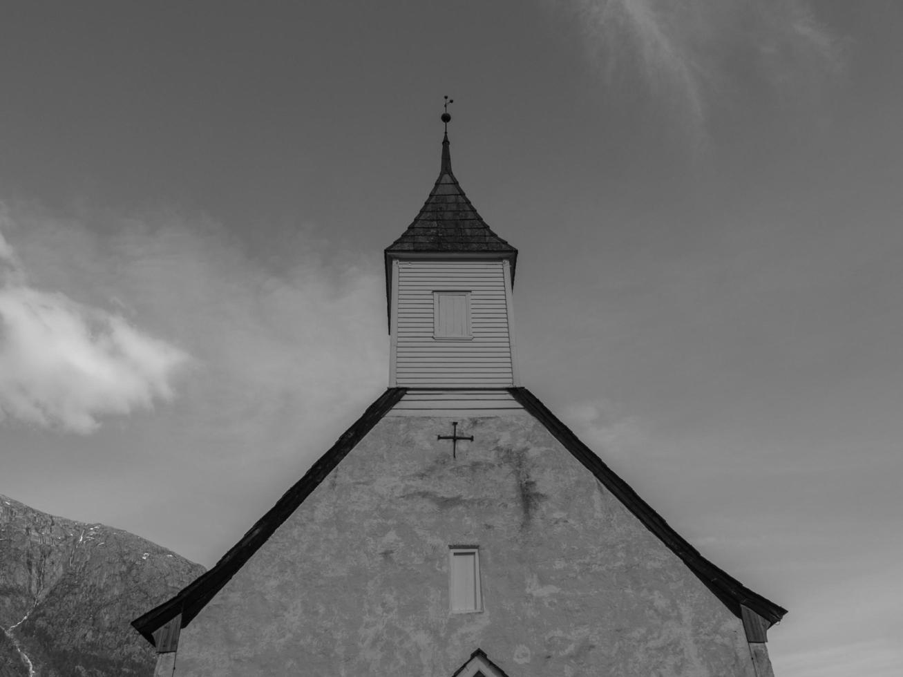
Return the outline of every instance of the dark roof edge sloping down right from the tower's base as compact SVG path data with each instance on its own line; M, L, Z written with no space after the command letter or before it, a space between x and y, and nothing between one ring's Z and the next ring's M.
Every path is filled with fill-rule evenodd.
M703 581L703 584L712 590L712 593L721 599L721 602L731 609L731 613L736 617L742 619L741 607L748 607L765 618L768 626L772 626L787 614L787 609L779 607L769 599L744 587L739 580L706 560L699 551L684 540L683 536L675 532L661 515L658 515L646 501L640 498L627 482L619 478L602 459L573 434L573 431L559 421L554 413L550 412L545 404L536 398L535 394L523 387L508 388L508 392L523 405L527 412L533 414L539 422L545 425L554 438L560 441L565 449L569 450L585 468L590 470L631 513L636 515L649 531L655 533L671 552L684 561L684 564L694 572L696 577Z

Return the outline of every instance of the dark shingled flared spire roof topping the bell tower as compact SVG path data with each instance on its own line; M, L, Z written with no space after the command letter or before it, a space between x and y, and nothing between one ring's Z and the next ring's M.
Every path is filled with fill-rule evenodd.
M386 247L386 255L405 252L504 252L517 256L517 249L492 232L461 190L452 173L448 134L442 139L439 178L424 207L402 236Z

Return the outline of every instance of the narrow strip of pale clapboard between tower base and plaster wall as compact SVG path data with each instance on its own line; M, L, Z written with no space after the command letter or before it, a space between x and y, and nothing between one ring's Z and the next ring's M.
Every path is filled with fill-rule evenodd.
M524 412L507 390L408 390L389 416L502 416Z

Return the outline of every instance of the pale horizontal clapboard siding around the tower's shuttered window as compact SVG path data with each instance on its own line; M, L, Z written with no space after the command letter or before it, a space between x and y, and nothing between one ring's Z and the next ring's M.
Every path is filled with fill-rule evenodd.
M398 263L397 297L392 303L396 385L514 385L502 265L501 261ZM469 338L434 338L433 292L470 292Z

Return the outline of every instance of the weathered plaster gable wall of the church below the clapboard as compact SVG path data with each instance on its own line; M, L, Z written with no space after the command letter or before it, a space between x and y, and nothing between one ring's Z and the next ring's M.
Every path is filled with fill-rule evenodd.
M737 617L526 413L386 417L182 631L176 674L755 677ZM653 496L654 499L654 496ZM654 501L653 501L654 502ZM483 605L449 612L450 544Z

